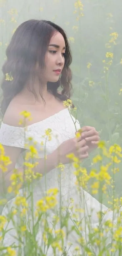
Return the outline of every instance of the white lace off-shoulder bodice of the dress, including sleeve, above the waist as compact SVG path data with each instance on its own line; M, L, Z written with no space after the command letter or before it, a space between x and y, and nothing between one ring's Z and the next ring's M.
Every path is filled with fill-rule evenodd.
M72 120L73 119L73 120ZM2 122L0 129L0 143L6 146L28 147L25 145L28 142L28 138L32 137L36 142L36 148L40 157L44 157L44 148L45 148L45 130L51 128L52 130L52 139L51 141L46 142L46 154L52 153L62 142L65 140L71 139L75 136L75 118L70 115L68 108L59 111L46 118L45 120L39 121L37 123L28 125L27 129L21 127L10 126ZM80 129L80 124L78 120L76 121L77 130ZM41 146L43 141L44 146ZM20 154L17 165L21 167L22 164L22 153Z

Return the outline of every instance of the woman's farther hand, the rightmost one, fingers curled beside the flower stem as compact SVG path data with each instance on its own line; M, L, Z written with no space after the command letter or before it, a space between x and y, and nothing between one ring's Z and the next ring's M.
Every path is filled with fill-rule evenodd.
M88 153L98 147L98 142L100 140L99 132L92 126L84 126L80 130L81 139L85 139L86 145L89 147Z

